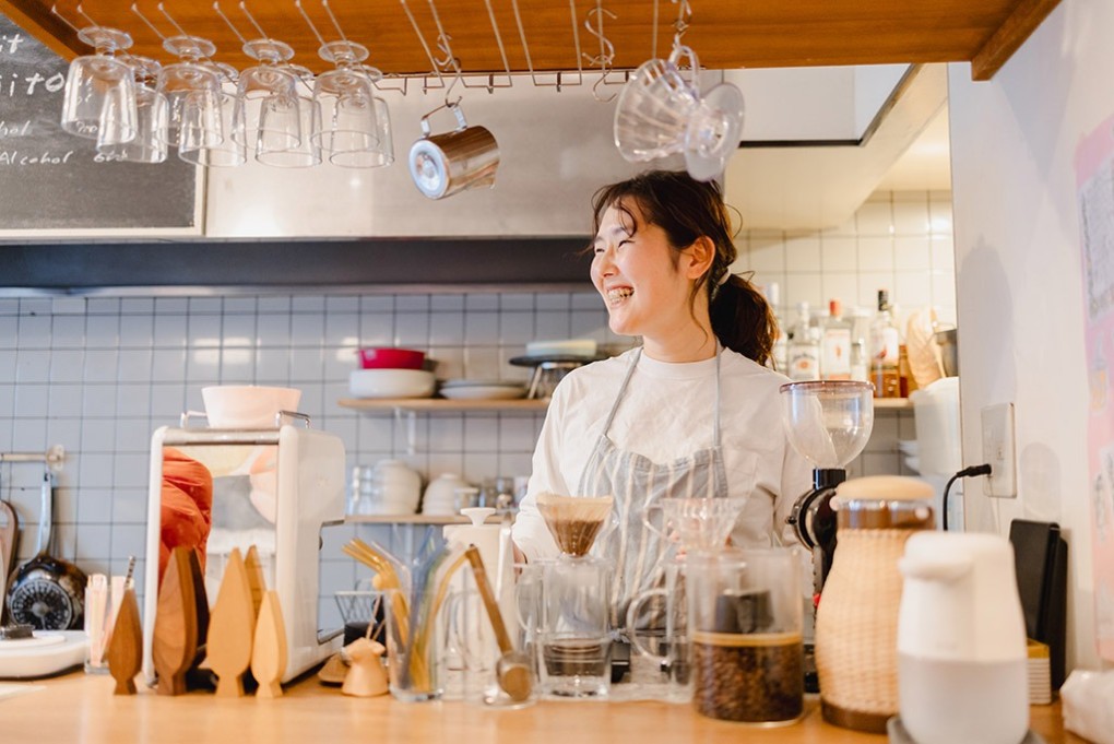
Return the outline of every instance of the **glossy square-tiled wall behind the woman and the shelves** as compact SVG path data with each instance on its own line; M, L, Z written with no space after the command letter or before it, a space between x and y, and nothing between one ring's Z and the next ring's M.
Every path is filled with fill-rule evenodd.
M876 195L851 225L823 233L743 233L735 270L753 270L760 284L782 283L783 313L799 300L820 305L829 296L871 306L877 288L887 287L905 309L931 302L941 317L954 319L946 196ZM0 453L65 447L55 550L87 571L121 572L128 556L144 554L152 433L176 425L184 411L203 410L204 385L301 389L300 408L314 428L343 440L350 468L395 458L427 478L457 472L479 481L529 473L544 414L358 413L338 404L348 397L355 349L427 350L441 379L525 381L529 370L508 360L528 341L583 336L615 350L631 343L610 333L587 286L547 293L0 296ZM913 438L911 412L881 411L874 427L851 474L902 472L896 440ZM41 480L41 466L0 462L0 498L13 502L23 527L21 559L37 549ZM389 546L414 539L408 529L370 531ZM351 588L359 574L335 539L324 558L323 607L335 613L331 593Z

